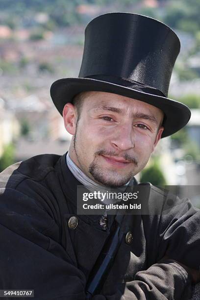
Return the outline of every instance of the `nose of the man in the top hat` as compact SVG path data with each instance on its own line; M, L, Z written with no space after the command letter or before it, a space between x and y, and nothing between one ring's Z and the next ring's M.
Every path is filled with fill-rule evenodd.
M115 134L111 138L111 143L118 150L134 148L132 125L126 124L118 126Z

